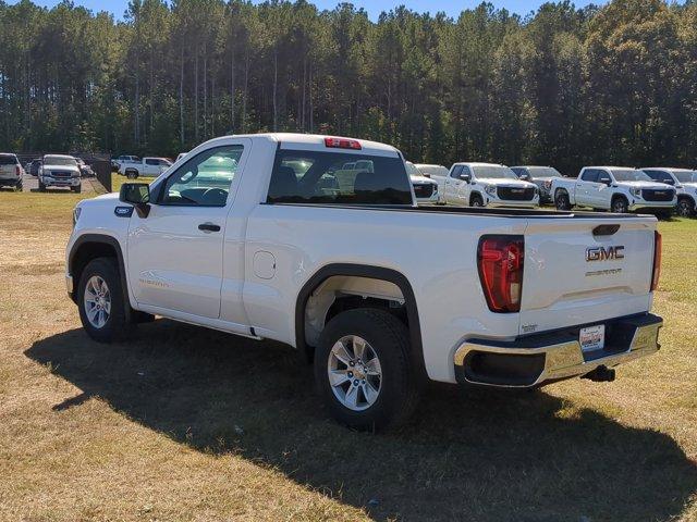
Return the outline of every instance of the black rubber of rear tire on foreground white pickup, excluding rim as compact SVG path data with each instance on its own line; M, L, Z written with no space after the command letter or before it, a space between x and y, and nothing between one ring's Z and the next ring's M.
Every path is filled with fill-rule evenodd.
M327 368L332 347L347 335L364 338L381 366L379 395L362 411L342 405L329 383ZM411 366L406 326L394 315L378 309L347 310L334 316L322 331L315 350L315 380L322 400L338 422L356 430L396 427L409 418L420 395L418 380Z

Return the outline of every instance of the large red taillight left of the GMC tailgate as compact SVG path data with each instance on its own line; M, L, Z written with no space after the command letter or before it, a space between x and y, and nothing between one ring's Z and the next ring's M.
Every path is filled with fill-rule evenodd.
M524 260L523 236L482 236L479 239L479 279L492 312L521 311Z

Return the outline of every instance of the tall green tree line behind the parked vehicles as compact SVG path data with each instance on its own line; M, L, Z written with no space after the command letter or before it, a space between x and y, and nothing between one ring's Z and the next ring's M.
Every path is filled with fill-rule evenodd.
M697 3L490 3L371 21L305 0L0 0L0 150L175 156L328 133L407 159L697 166Z

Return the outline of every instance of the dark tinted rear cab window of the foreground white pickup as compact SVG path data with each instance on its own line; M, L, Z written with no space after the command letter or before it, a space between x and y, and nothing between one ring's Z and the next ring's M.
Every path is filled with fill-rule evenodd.
M412 206L412 187L398 157L283 149L267 202Z

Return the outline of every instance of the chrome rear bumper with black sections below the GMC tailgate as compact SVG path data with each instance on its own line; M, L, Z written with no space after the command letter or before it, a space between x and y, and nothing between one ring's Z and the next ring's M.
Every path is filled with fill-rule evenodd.
M657 315L623 318L606 324L606 348L583 352L579 327L523 337L514 341L469 339L455 351L455 376L461 384L530 388L586 375L599 366L617 364L656 352L663 320Z

